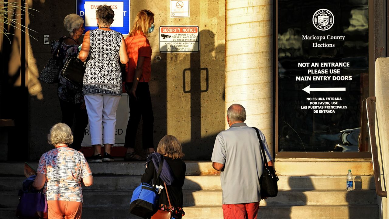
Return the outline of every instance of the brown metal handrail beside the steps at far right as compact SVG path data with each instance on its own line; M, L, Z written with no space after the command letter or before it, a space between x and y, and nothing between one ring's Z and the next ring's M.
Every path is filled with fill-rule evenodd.
M380 182L380 165L378 163L377 140L375 139L375 96L366 100L367 123L369 127L369 140L371 147L371 159L373 160L375 192L381 197L387 197L387 192L382 191Z

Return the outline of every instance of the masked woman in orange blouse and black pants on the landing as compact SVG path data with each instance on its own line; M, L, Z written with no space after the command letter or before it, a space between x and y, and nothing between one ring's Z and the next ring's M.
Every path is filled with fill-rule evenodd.
M142 148L147 154L154 152L153 129L154 115L151 106L149 81L151 78L151 46L147 39L154 30L154 14L149 10L138 12L132 30L126 38L128 63L125 88L130 105L130 119L128 119L126 140L127 148L125 161L145 160L135 153L135 136L142 116Z

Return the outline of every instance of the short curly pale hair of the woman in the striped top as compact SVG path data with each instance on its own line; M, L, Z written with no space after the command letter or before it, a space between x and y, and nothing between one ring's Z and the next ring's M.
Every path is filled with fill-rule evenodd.
M65 123L57 123L53 127L51 127L50 133L49 135L47 135L47 142L52 145L72 144L72 130Z

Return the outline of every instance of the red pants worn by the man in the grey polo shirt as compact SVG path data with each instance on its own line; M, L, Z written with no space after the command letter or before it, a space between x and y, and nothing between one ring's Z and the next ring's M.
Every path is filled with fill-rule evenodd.
M256 219L259 201L243 204L222 205L224 219Z

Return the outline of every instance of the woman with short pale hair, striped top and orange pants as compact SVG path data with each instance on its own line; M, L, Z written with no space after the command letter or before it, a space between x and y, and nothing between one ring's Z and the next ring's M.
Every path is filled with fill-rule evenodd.
M40 157L32 186L37 190L44 187L43 193L49 207L48 218L81 219L81 182L85 186L93 184L88 162L84 154L68 147L73 142L73 135L67 124L55 124L47 140L55 148Z

